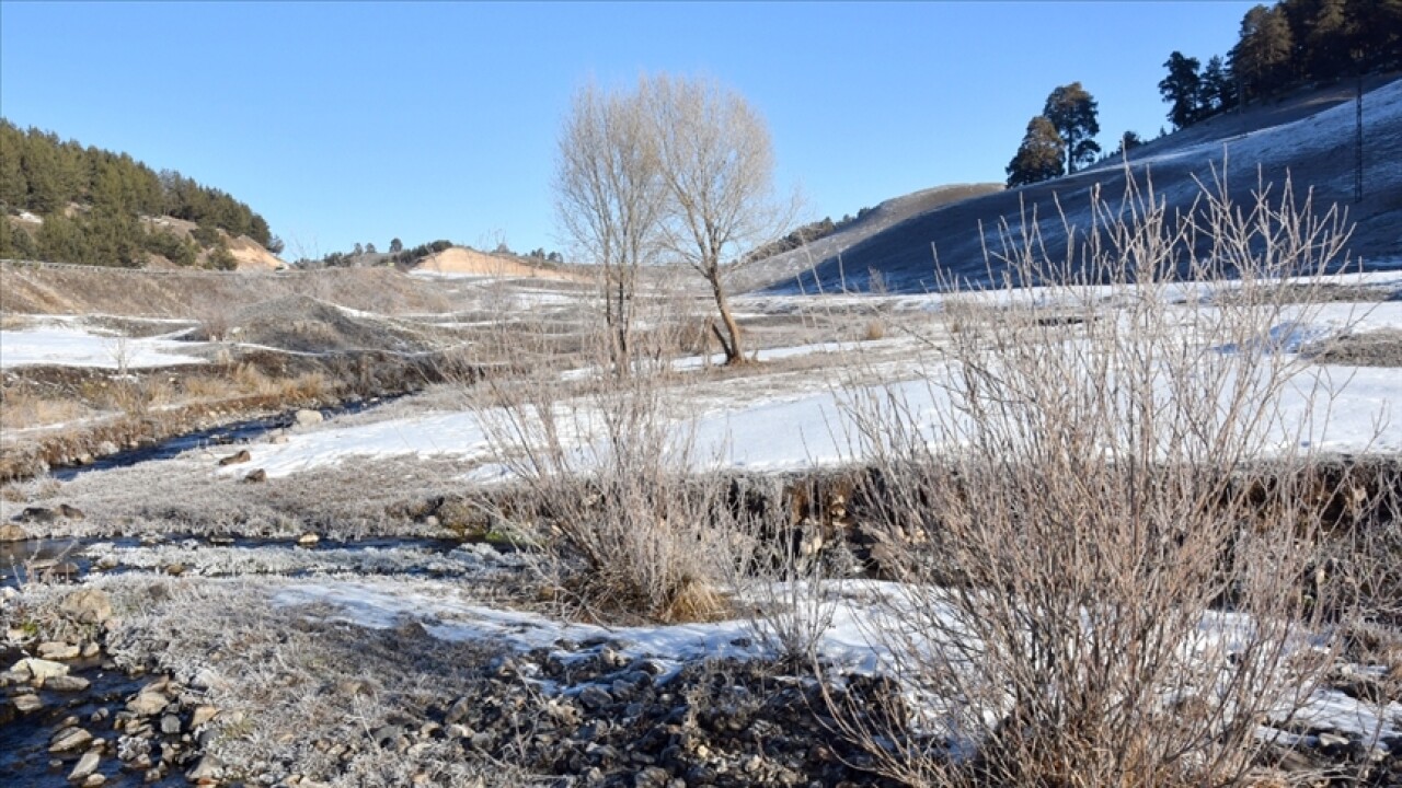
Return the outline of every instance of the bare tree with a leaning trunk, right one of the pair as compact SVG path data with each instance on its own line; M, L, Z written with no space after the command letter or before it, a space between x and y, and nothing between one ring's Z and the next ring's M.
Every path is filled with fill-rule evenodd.
M663 74L645 80L644 94L670 198L665 245L711 285L725 327L712 330L726 363L743 363L725 261L780 236L791 215L774 195L768 128L742 95L711 80Z

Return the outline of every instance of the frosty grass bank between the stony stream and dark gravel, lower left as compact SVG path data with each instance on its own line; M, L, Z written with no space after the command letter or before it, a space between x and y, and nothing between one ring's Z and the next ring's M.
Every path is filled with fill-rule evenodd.
M269 607L269 586L128 575L98 583L122 616L109 651L128 666L174 674L220 709L207 754L244 778L292 774L339 787L529 785L530 775L458 740L408 752L386 726L419 731L442 718L499 653L491 642L449 642L405 623L387 630L320 621L306 609ZM264 777L266 775L266 777Z

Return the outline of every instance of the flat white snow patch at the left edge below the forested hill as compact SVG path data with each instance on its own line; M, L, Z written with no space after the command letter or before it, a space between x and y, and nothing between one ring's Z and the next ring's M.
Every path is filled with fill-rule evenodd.
M179 334L126 338L60 325L0 331L0 367L55 365L137 369L205 363L202 358L185 355L191 344L172 339Z

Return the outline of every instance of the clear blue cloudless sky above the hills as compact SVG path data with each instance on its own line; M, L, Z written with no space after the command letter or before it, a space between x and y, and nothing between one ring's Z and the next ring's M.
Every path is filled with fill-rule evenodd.
M1164 60L1253 3L13 3L0 114L233 193L320 257L390 238L564 248L550 191L575 87L704 73L767 118L808 217L1001 181L1080 80L1101 144L1166 126Z

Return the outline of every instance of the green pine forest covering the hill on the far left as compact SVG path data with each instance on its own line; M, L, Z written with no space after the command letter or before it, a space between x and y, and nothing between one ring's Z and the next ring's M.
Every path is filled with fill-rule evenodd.
M53 132L20 130L0 119L0 257L140 266L147 252L177 265L233 266L219 230L282 250L262 216L219 189L125 153L62 142ZM38 220L15 222L31 213ZM153 230L142 216L193 222L191 238Z

